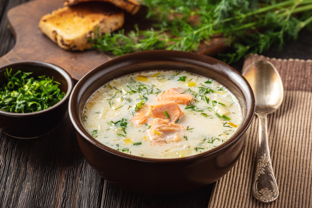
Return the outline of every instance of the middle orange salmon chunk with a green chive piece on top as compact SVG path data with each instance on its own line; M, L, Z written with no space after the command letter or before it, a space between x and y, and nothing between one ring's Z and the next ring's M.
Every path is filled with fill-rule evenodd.
M153 118L168 119L169 122L177 121L178 118L184 114L177 103L170 100L160 101L156 105L150 107ZM169 118L164 111L168 113Z

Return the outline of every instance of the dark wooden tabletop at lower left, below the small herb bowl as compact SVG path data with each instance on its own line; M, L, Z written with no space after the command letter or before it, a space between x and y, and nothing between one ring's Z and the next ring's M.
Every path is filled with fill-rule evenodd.
M99 207L103 184L82 156L68 115L37 139L0 132L0 207Z

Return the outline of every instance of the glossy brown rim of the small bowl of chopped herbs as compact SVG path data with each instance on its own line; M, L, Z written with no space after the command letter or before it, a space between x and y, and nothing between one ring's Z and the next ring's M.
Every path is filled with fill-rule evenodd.
M55 65L55 64L51 64L48 62L43 62L43 61L18 61L18 62L12 62L3 66L0 66L0 73L3 72L4 70L6 70L6 68L13 68L19 65L29 65L29 66L39 66L39 67L46 67L49 69L52 69L54 71L57 71L61 74L62 77L64 77L64 79L67 82L67 92L65 94L65 96L61 99L60 102L56 103L55 105L41 110L41 111L36 111L36 112L32 112L32 113L12 113L12 112L7 112L7 111L2 111L0 110L0 114L2 115L7 115L7 116L14 116L14 117L34 117L34 116L38 116L39 114L46 114L49 111L52 111L55 108L58 108L59 106L62 106L67 100L69 100L71 92L74 88L74 81L71 77L71 75L66 72L64 69L62 69L61 67Z

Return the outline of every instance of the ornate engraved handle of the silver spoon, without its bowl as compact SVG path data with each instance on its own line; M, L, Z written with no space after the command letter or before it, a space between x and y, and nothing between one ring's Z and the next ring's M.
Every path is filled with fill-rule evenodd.
M257 200L268 203L277 199L279 192L270 158L267 114L257 113L257 116L259 118L259 146L252 194Z

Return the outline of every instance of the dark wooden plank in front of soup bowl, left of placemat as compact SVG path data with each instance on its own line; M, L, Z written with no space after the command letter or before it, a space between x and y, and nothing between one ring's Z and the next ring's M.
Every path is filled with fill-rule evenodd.
M125 177L127 177L126 174ZM139 183L140 176L138 178L129 178L129 180L136 180ZM207 208L213 185L185 194L164 196L128 191L105 181L101 208Z

